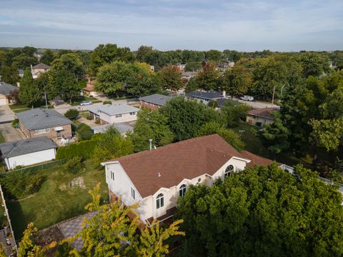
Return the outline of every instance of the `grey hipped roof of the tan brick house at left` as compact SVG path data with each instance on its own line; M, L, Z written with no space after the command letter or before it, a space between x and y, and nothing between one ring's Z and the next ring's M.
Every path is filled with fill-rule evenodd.
M26 129L44 129L51 126L64 126L71 124L69 119L66 119L62 114L54 109L31 109L16 114L19 121Z

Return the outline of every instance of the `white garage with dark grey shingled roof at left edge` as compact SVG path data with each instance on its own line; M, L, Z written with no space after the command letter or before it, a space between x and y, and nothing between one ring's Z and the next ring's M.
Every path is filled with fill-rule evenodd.
M1 158L8 169L51 161L56 156L56 143L46 136L1 143Z

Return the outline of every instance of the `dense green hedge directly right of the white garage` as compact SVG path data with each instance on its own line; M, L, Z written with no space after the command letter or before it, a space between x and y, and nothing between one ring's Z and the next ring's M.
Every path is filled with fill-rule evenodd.
M98 138L94 138L79 143L71 143L69 146L61 146L56 151L56 159L70 159L75 156L89 159L98 141Z

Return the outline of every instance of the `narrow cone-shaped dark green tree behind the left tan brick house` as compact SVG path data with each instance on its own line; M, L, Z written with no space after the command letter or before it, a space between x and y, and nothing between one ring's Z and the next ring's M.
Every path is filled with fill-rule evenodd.
M32 108L34 108L34 104L41 100L41 91L39 91L36 81L32 78L29 68L25 69L24 76L21 78L19 100Z

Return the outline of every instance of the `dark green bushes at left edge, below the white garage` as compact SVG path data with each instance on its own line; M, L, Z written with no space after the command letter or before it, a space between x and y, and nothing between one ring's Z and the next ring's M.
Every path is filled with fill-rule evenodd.
M11 198L23 198L39 191L44 178L39 173L13 171L0 178L0 183Z

